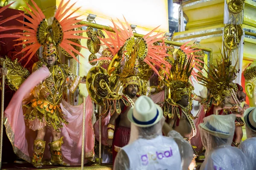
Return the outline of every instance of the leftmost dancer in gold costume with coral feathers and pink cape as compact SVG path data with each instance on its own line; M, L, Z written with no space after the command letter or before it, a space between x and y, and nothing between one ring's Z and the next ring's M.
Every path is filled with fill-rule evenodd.
M70 166L69 163L81 163L79 162L81 159L81 144L79 144L81 141L79 136L81 136L82 122L77 116L79 116L79 113L82 113L82 108L70 106L64 102L62 98L66 88L68 88L71 93L74 93L79 83L86 83L86 78L72 74L68 65L61 64L57 47L60 46L63 51L66 51L70 56L76 59L73 52L76 54L80 54L80 52L71 46L71 44L80 48L82 46L81 44L76 43L77 41L73 42L70 39L79 40L80 38L83 38L75 35L80 34L83 31L73 30L81 26L75 25L79 20L75 20L74 17L69 18L70 15L64 18L68 11L64 11L64 8L68 3L63 4L63 2L64 1L62 0L55 13L52 25L50 26L48 26L43 12L32 0L32 3L37 10L27 4L33 13L25 10L30 14L31 18L23 14L23 16L31 23L19 20L28 27L8 28L26 31L24 33L17 33L20 36L18 40L26 40L17 44L27 45L20 51L20 53L26 51L23 58L29 56L29 59L31 59L35 52L43 46L43 60L38 61L33 65L32 75L27 79L26 77L29 75L29 72L26 69L22 69L20 65L18 65L17 60L12 62L6 58L6 61L8 62L7 68L9 69L10 74L7 76L7 82L9 82L10 86L15 87L16 89L19 88L5 111L6 132L9 134L8 137L13 144L15 153L20 158L31 162L34 167L42 167L42 165L44 165L42 160L44 152L46 151L45 149L48 148L47 142L49 142L50 161L47 161L46 164ZM26 75L26 77L24 75ZM13 80L14 78L16 81ZM21 79L21 81L17 81L19 79ZM24 81L25 79L26 81ZM16 84L13 84L13 82L16 82ZM26 85L27 87L25 87ZM29 97L26 92L30 93ZM22 105L21 101L16 99L17 96L21 101L23 100ZM23 111L21 109L19 110L18 106L22 106ZM65 109L63 110L63 108ZM67 111L67 108L69 108L69 111ZM18 120L16 118L19 118L22 113L25 122L23 123L23 121L19 120L21 121L18 123L20 125L20 130L17 130L15 121ZM10 117L10 114L16 116ZM72 118L72 116L75 115L76 119ZM71 123L70 126L68 126L69 121ZM88 126L90 126L90 123L89 120ZM24 124L26 124L29 130L33 130L37 133L33 133L28 129L25 130L23 127ZM71 130L76 130L76 136L69 134ZM89 127L87 129L87 135L91 137L91 140L88 142L91 142L92 144L86 144L86 157L92 157L94 143L92 128ZM49 141L50 139L51 141ZM22 140L23 144L20 144L18 140ZM67 142L67 145L65 146L65 152L63 153L61 145L64 141ZM31 144L33 146L30 146ZM33 150L31 150L31 147ZM76 150L77 153L73 153L72 150ZM46 151L45 156L47 159L49 156L48 150ZM32 159L30 159L30 157L32 157ZM66 163L66 161L69 163Z

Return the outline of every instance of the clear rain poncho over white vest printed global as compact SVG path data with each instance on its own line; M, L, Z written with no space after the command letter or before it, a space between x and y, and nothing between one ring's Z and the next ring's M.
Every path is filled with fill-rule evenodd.
M193 159L191 145L174 130L163 136L164 121L146 128L131 123L129 144L117 154L114 170L187 170Z

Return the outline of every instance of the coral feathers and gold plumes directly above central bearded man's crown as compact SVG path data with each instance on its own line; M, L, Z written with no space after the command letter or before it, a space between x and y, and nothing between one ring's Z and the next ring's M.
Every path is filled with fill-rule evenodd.
M148 74L152 74L152 70L159 75L156 67L162 68L162 63L169 65L164 60L164 57L168 55L166 54L166 49L162 46L155 45L155 42L159 40L164 41L164 37L157 38L163 33L149 37L158 27L154 28L145 36L136 38L134 37L130 24L126 20L126 26L119 21L122 28L114 23L113 20L112 23L113 27L111 28L115 33L105 30L108 38L99 37L99 39L108 47L113 57L101 57L93 61L110 60L108 74L118 76L124 87L129 83L134 83L135 79L137 81L138 77L148 81L151 76ZM125 63L122 67L121 62ZM135 71L136 66L139 69L139 74ZM140 74L143 71L144 73Z

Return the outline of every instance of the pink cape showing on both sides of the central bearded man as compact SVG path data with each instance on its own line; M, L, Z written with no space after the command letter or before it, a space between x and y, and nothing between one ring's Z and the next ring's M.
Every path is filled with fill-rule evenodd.
M164 91L160 91L157 94L149 96L154 103L163 102L164 101ZM102 144L105 146L108 146L107 140L108 140L108 123L109 119L111 117L111 113L109 112L108 115L102 116ZM96 121L96 123L93 125L94 127L94 133L96 140L99 141L99 119Z

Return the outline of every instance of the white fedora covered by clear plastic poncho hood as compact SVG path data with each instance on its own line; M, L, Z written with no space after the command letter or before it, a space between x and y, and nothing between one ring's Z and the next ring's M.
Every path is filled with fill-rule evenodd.
M210 115L204 118L204 123L199 127L206 130L213 136L227 139L235 132L235 114L230 115Z

